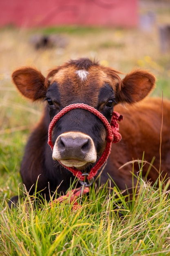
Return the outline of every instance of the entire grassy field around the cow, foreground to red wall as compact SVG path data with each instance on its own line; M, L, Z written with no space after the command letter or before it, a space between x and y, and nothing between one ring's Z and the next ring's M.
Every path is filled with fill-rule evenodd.
M77 211L69 201L51 208L44 202L39 208L28 195L27 202L12 211L7 207L7 198L23 190L19 170L24 145L42 110L42 105L18 94L11 72L31 65L45 75L70 58L86 56L125 73L134 67L150 70L157 76L152 96L162 97L163 92L170 99L170 53L161 53L158 33L158 24L168 21L170 9L155 10L157 19L150 32L139 28L0 29L0 255L170 255L170 197L163 184L154 189L139 179L140 189L134 189L131 202L116 187L108 193L91 188ZM30 40L36 34L55 34L65 43L36 50Z

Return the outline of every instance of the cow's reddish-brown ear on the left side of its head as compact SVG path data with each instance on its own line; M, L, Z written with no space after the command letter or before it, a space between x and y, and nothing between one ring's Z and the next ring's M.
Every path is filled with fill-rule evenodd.
M38 70L23 67L12 74L13 83L26 98L36 101L46 94L45 77Z

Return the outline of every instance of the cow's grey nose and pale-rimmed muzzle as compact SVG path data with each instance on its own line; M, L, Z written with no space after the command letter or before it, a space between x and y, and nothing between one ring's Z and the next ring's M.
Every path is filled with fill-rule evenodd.
M93 139L82 132L66 132L55 141L53 159L66 166L80 167L94 163L97 153Z

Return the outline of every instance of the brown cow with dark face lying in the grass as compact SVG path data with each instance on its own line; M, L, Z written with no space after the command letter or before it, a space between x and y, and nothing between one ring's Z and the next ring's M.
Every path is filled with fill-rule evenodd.
M162 103L161 99L141 101L155 86L152 74L135 70L124 79L119 74L88 58L72 60L56 67L46 78L30 67L13 72L13 82L26 98L45 101L44 113L29 138L21 164L22 180L30 194L34 193L39 175L37 190L43 191L47 200L50 198L49 190L53 193L58 186L57 193L65 193L74 177L62 164L89 172L105 149L106 128L102 121L85 109L75 109L67 112L55 124L52 152L47 144L49 124L60 110L73 103L85 103L96 108L108 122L113 108L124 116L119 126L122 139L112 146L100 177L101 183L111 177L119 189L132 188L132 165L126 163L132 159L142 159L143 153L148 163L155 157L154 166L158 171L150 168L147 174L150 181L157 180L159 171L163 177L169 177L170 102ZM138 101L141 102L136 103ZM149 164L143 166L143 176L148 167ZM139 163L134 164L134 172L139 172Z

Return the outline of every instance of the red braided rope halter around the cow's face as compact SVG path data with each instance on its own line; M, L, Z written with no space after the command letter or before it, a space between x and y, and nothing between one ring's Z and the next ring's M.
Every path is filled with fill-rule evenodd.
M82 109L88 110L91 113L93 113L94 115L96 115L104 123L104 125L106 127L106 131L107 131L107 137L106 137L107 144L106 144L104 153L102 154L102 156L100 157L98 162L91 169L89 175L87 176L87 179L91 180L97 174L97 171L99 171L99 169L104 165L104 163L108 159L112 143L117 143L121 140L121 134L119 133L119 124L117 123L117 120L118 121L123 120L123 116L119 115L117 112L113 112L112 119L109 124L108 120L106 119L106 117L104 117L104 115L102 115L102 113L100 113L97 109L95 109L89 105L86 105L84 103L75 103L75 104L68 105L65 108L63 108L57 115L55 115L55 117L53 118L53 120L51 121L51 123L49 125L48 144L49 144L49 146L51 146L52 150L53 150L54 145L53 145L51 137L52 137L52 131L53 131L53 128L54 128L56 122L68 111L76 109L76 108L82 108ZM79 180L84 181L84 175L82 175L83 173L81 171L79 171L77 168L67 167L67 166L64 166L64 167L66 169L68 169L69 171L71 171L71 173L73 173L73 175L75 175Z

